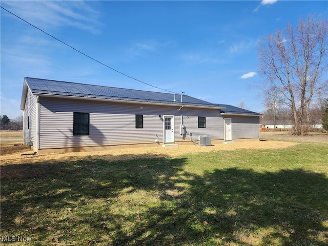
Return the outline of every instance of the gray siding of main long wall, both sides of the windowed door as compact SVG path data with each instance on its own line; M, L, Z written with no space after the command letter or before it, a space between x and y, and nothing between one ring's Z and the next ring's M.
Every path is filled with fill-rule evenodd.
M153 106L105 101L40 97L40 149L110 146L163 142L163 115L174 116L175 141L180 136L181 112L177 106ZM90 113L90 134L73 135L73 112ZM144 128L135 128L135 115L144 115ZM159 117L159 115L161 117ZM183 124L193 140L199 135L223 139L219 110L183 108ZM198 116L206 128L198 128ZM190 139L187 135L186 140Z

